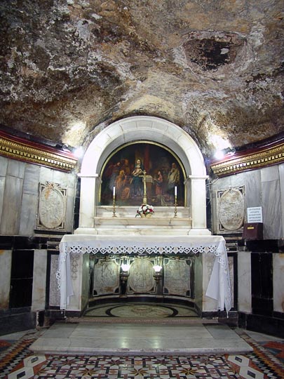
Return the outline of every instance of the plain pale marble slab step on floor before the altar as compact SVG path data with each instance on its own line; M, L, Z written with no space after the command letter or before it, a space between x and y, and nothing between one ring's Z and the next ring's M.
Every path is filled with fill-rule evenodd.
M161 355L251 352L226 325L55 323L29 347L42 354Z

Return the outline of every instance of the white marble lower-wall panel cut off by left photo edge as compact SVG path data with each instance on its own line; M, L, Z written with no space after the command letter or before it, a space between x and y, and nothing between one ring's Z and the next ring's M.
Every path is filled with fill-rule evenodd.
M11 283L12 251L0 250L0 309L9 308L9 294Z

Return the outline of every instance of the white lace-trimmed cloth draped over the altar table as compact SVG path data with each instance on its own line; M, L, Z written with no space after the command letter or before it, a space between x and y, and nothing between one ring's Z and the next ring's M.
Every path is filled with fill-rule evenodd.
M65 234L60 241L58 284L60 309L65 310L74 295L70 270L70 253L102 254L214 254L206 296L217 300L218 310L232 307L226 243L222 236L109 236L100 234Z

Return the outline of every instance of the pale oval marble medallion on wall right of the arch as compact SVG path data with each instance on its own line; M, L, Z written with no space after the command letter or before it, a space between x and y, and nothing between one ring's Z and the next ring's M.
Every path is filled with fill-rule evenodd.
M218 218L225 230L238 230L243 226L245 202L240 190L227 189L219 199Z

